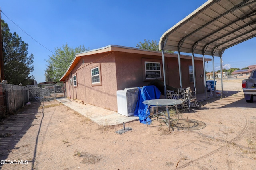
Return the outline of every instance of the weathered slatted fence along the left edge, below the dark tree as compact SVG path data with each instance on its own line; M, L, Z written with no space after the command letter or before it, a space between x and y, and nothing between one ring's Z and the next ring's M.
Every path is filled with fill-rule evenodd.
M0 83L0 119L24 107L27 102L27 87Z

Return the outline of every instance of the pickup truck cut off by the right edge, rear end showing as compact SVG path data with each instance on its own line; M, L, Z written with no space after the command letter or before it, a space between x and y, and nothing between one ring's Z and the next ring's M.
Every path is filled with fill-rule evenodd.
M246 102L253 102L253 96L256 96L256 70L252 70L251 76L242 81L242 88Z

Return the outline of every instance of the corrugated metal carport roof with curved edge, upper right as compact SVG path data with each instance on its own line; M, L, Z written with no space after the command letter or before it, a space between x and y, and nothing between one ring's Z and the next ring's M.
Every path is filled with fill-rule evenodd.
M256 37L256 0L208 0L166 31L159 49L221 57Z

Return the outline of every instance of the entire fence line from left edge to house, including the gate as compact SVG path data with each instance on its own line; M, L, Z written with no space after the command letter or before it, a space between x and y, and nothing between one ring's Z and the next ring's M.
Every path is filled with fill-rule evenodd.
M17 86L0 83L0 119L16 112L28 102L46 102L65 97L63 84Z

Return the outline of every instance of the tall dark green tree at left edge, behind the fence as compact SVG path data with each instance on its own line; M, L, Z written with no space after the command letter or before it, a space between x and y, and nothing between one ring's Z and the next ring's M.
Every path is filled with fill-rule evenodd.
M8 84L27 84L34 76L29 74L34 70L34 55L28 56L28 44L22 41L16 32L10 33L8 24L1 20L3 57L4 57L4 79Z

